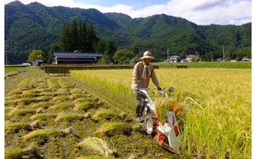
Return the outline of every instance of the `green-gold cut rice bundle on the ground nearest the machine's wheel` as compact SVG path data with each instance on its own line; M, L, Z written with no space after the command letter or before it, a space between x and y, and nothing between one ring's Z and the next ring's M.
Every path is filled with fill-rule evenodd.
M103 123L96 133L104 133L106 135L129 134L132 132L133 125L130 123Z

